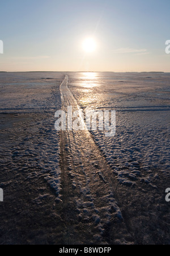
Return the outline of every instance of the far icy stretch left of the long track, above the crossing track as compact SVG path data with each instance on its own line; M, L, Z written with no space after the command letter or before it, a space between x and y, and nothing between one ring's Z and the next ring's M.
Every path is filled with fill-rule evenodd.
M65 75L53 72L1 73L0 81L0 111L43 112L56 110L58 100L55 100L56 81L62 82Z

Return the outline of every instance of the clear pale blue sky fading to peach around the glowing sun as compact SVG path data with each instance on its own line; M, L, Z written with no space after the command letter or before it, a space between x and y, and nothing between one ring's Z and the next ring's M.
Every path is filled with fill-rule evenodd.
M0 71L170 72L169 0L6 0ZM93 38L96 49L82 43Z

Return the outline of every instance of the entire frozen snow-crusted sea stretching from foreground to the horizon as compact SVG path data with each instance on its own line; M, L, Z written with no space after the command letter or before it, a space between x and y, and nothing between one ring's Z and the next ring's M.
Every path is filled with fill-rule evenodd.
M1 244L170 244L170 73L0 73ZM54 114L116 110L116 134Z

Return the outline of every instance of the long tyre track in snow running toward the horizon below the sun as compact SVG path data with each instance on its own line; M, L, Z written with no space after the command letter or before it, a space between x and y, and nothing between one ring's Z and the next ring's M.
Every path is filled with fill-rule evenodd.
M68 79L66 75L60 86L62 110L67 112L69 105L73 111L80 110L67 86ZM115 199L114 184L109 176L111 170L105 158L100 155L90 132L87 129L61 131L61 147L63 204L67 205L72 201L72 210L76 207L77 212L77 216L75 214L73 218L88 226L93 237L91 242L133 242ZM71 199L69 191L73 191ZM66 214L71 214L71 208L69 209ZM115 231L114 237L109 237L110 229Z

